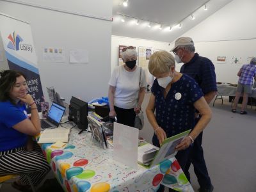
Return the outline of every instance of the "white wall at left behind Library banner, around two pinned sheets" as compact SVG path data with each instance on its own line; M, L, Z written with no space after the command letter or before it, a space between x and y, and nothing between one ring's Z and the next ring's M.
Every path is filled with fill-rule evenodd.
M29 2L29 1L26 1ZM54 86L68 101L72 95L83 100L108 95L111 54L112 1L30 1L49 8L65 9L72 13L56 12L18 3L0 1L0 12L31 24L38 57L38 68L44 90ZM64 4L64 3L63 3ZM104 6L99 6L103 4ZM93 15L93 19L83 15ZM42 60L44 47L60 47L65 51L65 63L47 63ZM70 65L69 49L88 50L89 63Z

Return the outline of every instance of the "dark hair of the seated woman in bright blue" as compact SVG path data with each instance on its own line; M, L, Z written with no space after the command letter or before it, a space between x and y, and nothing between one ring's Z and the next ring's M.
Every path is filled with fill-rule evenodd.
M15 104L15 100L10 97L10 92L16 83L17 77L23 76L25 79L26 77L22 72L15 70L3 70L0 72L0 76L0 101L10 100Z

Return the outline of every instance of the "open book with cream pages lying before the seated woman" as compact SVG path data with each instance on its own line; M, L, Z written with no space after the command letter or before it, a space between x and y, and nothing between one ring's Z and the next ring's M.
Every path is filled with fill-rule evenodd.
M56 143L57 141L68 142L70 129L57 127L54 129L45 129L41 132L38 143Z

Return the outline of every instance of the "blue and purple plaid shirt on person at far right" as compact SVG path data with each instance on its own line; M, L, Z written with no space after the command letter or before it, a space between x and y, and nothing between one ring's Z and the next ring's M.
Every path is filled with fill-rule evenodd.
M241 76L238 83L252 85L252 79L256 76L256 65L246 64L241 68Z

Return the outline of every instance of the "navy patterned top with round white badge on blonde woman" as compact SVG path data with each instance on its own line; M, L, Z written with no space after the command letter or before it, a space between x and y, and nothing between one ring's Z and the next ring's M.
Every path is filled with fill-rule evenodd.
M194 79L182 74L164 99L164 88L159 86L155 79L152 86L152 93L155 95L155 108L157 124L170 137L180 132L193 129L195 126L196 100L203 97L203 93Z

